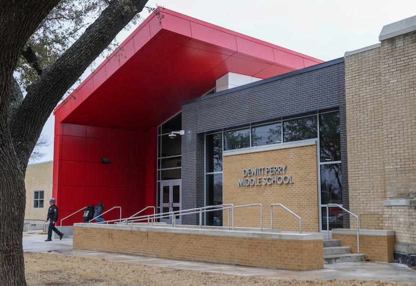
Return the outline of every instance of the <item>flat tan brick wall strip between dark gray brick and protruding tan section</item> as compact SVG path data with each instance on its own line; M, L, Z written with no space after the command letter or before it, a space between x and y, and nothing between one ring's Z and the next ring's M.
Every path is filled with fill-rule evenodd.
M361 228L382 229L386 198L379 49L345 57L345 102L350 210ZM355 227L355 219L351 219Z

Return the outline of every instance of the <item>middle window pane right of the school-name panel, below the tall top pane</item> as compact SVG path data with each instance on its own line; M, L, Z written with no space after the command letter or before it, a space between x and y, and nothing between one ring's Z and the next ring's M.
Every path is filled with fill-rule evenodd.
M321 203L342 204L341 164L321 165Z

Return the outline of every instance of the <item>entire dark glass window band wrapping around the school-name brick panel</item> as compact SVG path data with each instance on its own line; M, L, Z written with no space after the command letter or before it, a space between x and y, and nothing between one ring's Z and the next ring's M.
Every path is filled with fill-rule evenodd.
M240 148L282 144L300 140L317 140L320 166L320 208L322 229L329 221L330 229L343 227L340 210L326 205L342 204L340 116L335 109L304 114L296 118L275 118L250 126L218 131L205 135L205 204L223 203L223 152ZM318 127L319 122L319 127ZM208 212L207 225L222 225L222 212Z

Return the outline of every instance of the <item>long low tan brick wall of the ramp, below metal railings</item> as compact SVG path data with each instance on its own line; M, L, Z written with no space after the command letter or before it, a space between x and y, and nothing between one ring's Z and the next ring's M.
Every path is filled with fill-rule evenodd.
M74 226L74 248L292 270L323 268L322 240Z

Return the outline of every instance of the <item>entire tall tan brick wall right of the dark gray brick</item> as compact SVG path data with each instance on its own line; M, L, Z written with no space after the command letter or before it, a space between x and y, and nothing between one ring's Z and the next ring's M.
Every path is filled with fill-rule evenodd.
M416 197L415 66L416 32L345 57L350 210L361 228L393 229L409 243L416 209L382 201Z

